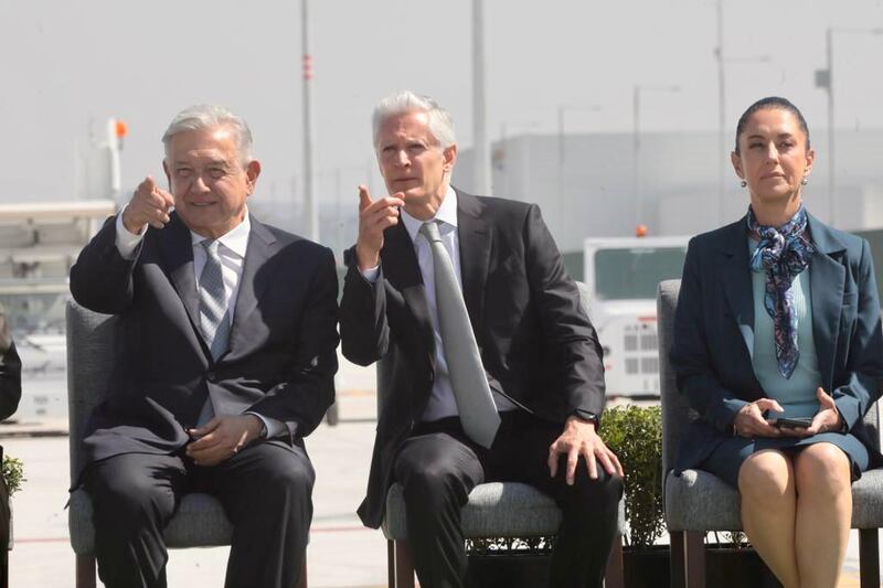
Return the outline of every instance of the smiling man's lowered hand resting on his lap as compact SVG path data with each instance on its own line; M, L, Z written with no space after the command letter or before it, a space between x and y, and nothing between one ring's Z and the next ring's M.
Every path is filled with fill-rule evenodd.
M187 446L187 455L196 466L216 466L256 439L264 424L255 415L214 417L199 429L189 429L195 439Z

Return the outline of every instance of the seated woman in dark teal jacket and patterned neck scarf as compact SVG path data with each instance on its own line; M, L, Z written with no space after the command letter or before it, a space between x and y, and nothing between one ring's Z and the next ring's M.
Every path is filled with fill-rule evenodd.
M742 116L732 162L751 206L691 240L671 353L699 414L675 472L738 489L745 532L786 588L837 585L850 484L880 459L862 423L883 375L873 263L804 206L815 158L785 98Z

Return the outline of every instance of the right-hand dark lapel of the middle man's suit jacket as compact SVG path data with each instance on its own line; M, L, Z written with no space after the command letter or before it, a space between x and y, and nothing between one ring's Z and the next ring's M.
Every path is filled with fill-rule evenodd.
M485 282L488 278L492 227L481 217L485 205L457 190L457 232L460 242L460 277L466 310L472 332L480 333L485 310Z

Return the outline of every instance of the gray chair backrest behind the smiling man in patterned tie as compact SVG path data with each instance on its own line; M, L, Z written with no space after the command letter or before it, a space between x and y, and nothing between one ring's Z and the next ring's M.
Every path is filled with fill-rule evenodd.
M81 441L92 410L108 394L117 350L118 318L67 302L67 418L71 481L78 475Z

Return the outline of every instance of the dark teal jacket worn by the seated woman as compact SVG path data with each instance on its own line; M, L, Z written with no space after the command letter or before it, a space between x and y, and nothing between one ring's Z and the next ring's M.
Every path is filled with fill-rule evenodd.
M809 215L812 336L822 386L871 450L862 417L880 397L883 336L871 252L855 235ZM671 362L699 418L684 431L675 469L701 463L745 403L765 397L754 375L754 296L745 218L691 239L674 318Z

